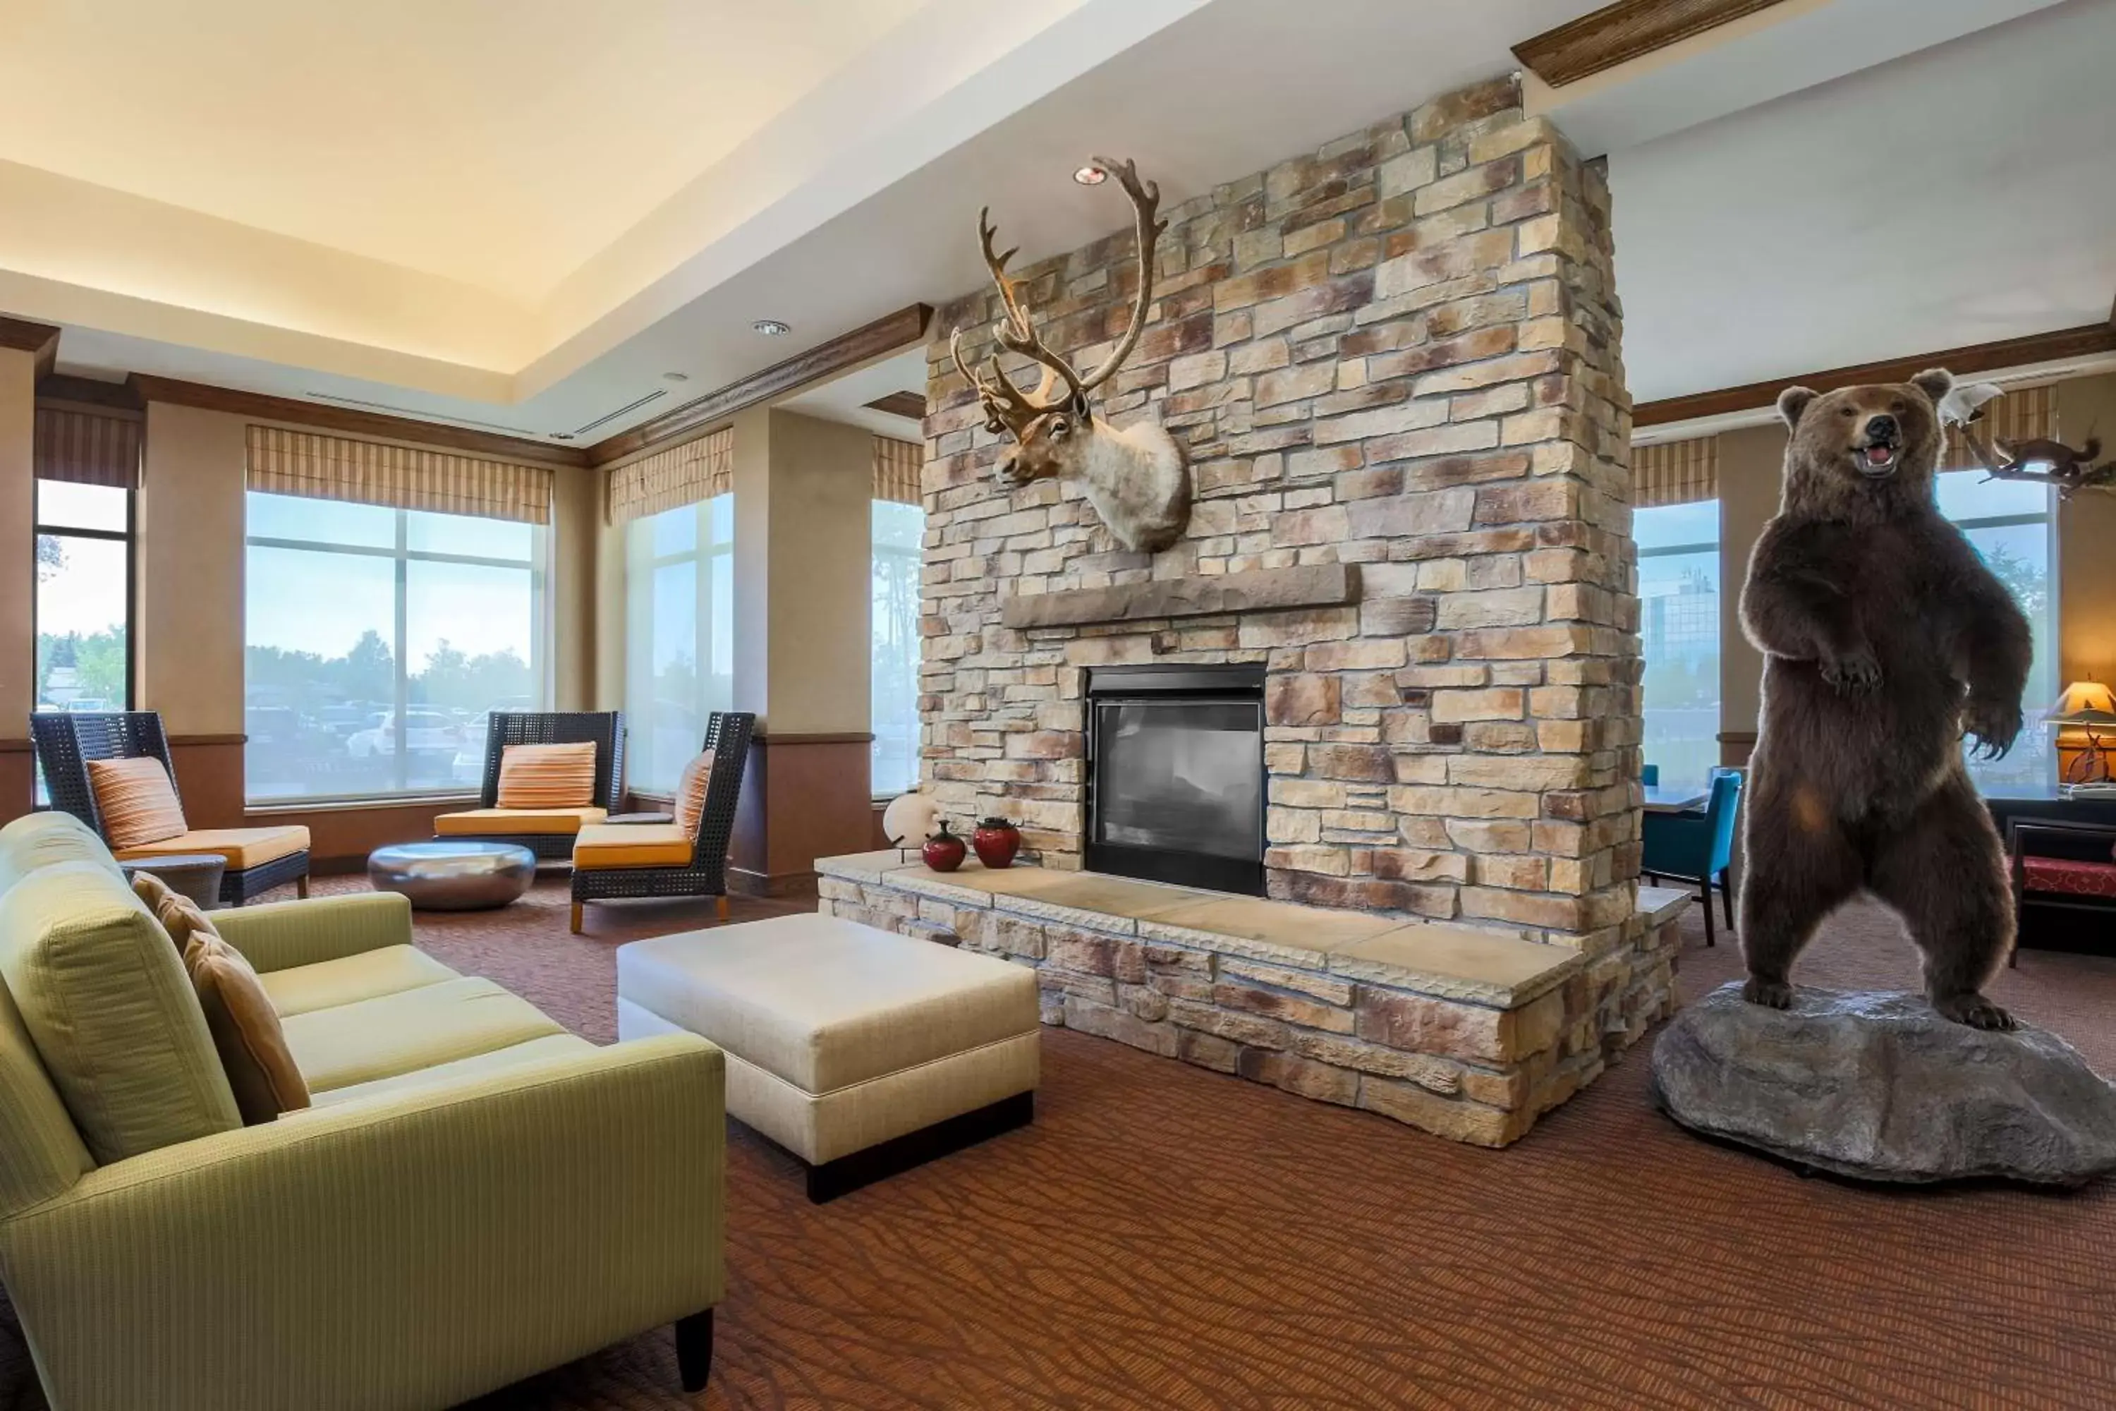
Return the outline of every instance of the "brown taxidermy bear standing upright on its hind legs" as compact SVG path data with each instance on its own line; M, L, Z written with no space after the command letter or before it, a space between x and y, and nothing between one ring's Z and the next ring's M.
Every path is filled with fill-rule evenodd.
M1934 503L1949 372L1818 396L1788 387L1786 480L1748 561L1741 628L1765 654L1744 846L1744 994L1784 1009L1792 960L1866 891L1896 908L1949 1020L2012 1028L1981 990L2012 950L1998 831L1962 736L2021 734L2029 630Z

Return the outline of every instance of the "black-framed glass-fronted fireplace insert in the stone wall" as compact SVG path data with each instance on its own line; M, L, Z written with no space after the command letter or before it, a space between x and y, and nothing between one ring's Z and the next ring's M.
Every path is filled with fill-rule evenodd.
M1263 895L1263 666L1088 673L1086 863Z

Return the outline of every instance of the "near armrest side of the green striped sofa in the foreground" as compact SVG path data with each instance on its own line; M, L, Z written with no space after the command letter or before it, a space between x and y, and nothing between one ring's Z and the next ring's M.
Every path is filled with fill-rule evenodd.
M118 1161L0 1223L55 1407L444 1407L724 1290L726 1068L667 1034Z

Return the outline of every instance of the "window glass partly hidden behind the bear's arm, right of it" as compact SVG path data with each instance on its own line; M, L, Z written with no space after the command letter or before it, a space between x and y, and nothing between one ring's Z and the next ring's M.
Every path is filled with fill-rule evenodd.
M2036 660L2021 713L2027 723L2004 759L1970 757L1970 778L1983 793L2044 791L2057 781L2057 740L2040 713L2057 700L2057 523L2050 489L2023 480L1987 480L1981 470L1938 476L1940 514L1968 535L1983 561L2027 613Z

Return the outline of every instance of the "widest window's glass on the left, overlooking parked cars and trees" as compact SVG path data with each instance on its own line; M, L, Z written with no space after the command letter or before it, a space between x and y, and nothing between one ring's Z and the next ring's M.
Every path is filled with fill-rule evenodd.
M250 491L252 800L476 791L548 696L542 525Z

